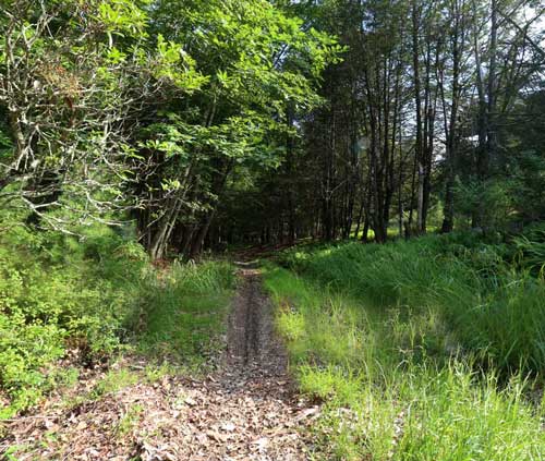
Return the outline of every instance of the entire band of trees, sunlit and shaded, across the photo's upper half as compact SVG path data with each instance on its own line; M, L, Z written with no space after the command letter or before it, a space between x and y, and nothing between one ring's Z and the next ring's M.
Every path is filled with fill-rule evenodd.
M1 9L0 199L27 223L190 258L544 217L537 1Z

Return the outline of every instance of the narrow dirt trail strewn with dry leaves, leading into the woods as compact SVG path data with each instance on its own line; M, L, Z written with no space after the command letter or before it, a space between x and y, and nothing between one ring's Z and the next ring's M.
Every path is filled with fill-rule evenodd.
M308 410L298 405L287 374L287 354L274 331L272 305L259 272L242 269L229 319L228 350L217 383L192 416L207 421L219 438L204 444L195 460L304 460L298 432ZM226 429L228 429L226 432ZM229 430L232 429L232 430Z

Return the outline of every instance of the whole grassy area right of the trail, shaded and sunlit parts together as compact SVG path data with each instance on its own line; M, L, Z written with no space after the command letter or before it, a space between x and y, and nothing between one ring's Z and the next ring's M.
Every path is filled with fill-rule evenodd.
M326 459L544 459L544 235L295 248L267 269Z

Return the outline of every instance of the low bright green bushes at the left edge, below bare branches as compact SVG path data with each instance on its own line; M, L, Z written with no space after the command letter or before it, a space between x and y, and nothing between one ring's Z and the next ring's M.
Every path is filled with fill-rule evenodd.
M143 269L140 262L118 256L118 248L121 239L106 229L88 232L83 244L21 226L2 233L0 381L12 398L4 415L35 403L56 385L53 365L70 344L86 361L118 349L135 298L114 274L123 267L134 271L134 280Z

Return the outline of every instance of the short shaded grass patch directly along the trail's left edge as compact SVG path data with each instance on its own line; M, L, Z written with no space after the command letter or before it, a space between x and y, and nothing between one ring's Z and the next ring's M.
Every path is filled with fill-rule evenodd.
M140 349L158 359L174 357L196 372L213 365L225 333L232 267L177 263L165 277L147 283Z

